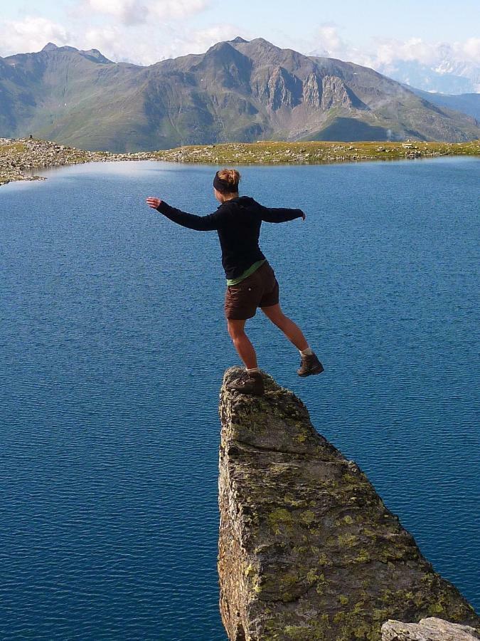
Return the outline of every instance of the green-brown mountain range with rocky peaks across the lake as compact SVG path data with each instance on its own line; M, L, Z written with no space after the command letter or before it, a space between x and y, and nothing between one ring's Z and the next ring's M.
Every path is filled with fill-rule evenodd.
M48 43L0 58L0 136L87 150L263 140L445 140L479 123L372 69L263 38L148 67Z

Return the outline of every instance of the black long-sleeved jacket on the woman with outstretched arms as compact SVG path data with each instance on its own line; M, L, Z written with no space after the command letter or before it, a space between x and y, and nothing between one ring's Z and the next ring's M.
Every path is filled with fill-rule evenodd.
M258 239L262 220L265 222L286 222L302 218L302 209L283 207L263 207L250 196L240 196L227 200L208 216L196 216L175 209L161 201L158 211L173 222L197 229L218 233L222 248L222 264L227 278L237 278L256 261L265 259Z

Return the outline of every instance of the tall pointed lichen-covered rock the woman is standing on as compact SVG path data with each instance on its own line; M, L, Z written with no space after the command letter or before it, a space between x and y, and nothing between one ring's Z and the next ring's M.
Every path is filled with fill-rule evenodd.
M267 375L220 392L220 613L230 641L377 641L389 618L479 625L365 474Z

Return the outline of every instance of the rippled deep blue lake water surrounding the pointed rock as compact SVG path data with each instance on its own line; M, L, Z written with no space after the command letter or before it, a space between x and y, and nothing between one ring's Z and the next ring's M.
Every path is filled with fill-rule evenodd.
M218 390L239 364L215 232L217 167L120 162L0 189L0 638L220 641ZM284 311L260 366L368 474L434 568L480 605L480 160L240 167L302 207L262 226Z

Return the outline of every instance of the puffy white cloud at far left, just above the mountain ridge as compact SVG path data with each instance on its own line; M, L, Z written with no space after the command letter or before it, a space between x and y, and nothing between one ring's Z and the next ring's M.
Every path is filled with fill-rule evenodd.
M23 20L0 21L0 56L40 51L46 43L70 44L71 33L61 24L46 18L26 16Z

